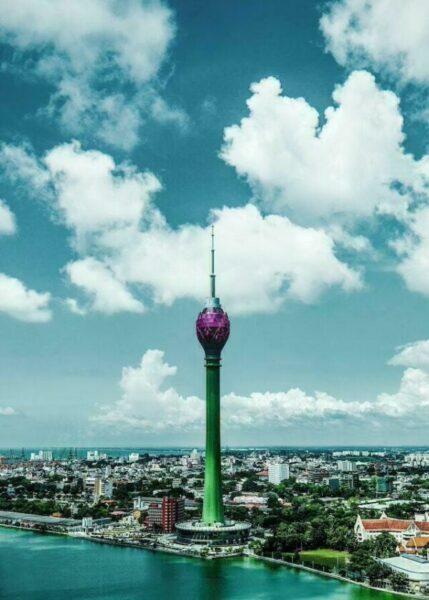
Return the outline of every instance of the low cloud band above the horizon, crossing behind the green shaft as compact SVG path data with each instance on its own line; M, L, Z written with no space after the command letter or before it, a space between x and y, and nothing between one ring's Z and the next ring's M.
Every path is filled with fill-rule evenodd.
M399 363L398 363L399 364ZM177 368L164 359L164 352L148 350L138 367L122 371L122 397L101 407L91 420L114 430L141 429L159 433L202 428L205 402L182 396L166 381ZM363 422L407 419L409 426L429 423L429 374L406 369L396 393L379 394L373 401L350 401L325 392L307 394L299 388L282 392L254 392L248 396L229 393L222 398L222 424L228 428L267 430L297 423Z

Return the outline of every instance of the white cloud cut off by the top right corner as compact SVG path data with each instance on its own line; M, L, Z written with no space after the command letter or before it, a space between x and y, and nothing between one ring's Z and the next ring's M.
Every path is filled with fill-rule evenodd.
M327 48L345 65L368 65L429 83L427 0L337 0L321 18Z

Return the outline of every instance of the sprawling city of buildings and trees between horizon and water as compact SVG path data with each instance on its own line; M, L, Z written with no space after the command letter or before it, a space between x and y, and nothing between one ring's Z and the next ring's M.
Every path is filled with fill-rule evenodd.
M402 573L408 589L422 592L429 585L428 459L427 451L401 448L226 449L220 461L223 546L241 544L262 554L271 548L273 554L281 545L296 554L306 543L296 537L299 518L312 526L311 516L299 517L298 511L316 502L326 524L332 521L344 537L327 534L324 545L359 552L391 536L391 556L380 562ZM185 554L195 554L198 534L204 554L205 466L202 449L130 449L120 456L97 449L2 451L0 525ZM181 549L180 523L193 524L190 542ZM241 523L251 525L249 539L247 530L239 537ZM225 552L220 534L216 546Z

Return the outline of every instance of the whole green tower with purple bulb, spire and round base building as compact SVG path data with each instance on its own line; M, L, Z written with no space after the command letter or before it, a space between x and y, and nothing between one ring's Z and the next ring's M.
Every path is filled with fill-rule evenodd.
M206 367L206 452L202 521L178 524L178 541L208 545L239 544L249 534L248 523L225 522L222 500L220 443L220 364L229 338L230 322L216 296L215 250L212 227L210 298L196 321Z

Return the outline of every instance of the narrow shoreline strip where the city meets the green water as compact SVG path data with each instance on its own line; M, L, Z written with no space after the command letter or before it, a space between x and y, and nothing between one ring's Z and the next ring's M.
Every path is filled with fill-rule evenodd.
M61 535L61 536L72 538L72 539L85 540L87 542L94 542L96 544L103 544L103 545L107 545L107 546L118 546L118 547L122 547L122 548L134 548L136 550L148 550L150 552L162 552L165 554L174 554L176 556L182 556L184 558L192 558L192 559L199 559L199 560L217 560L220 558L223 558L223 559L239 558L240 556L245 556L247 558L261 560L263 562L276 564L278 566L286 567L289 569L297 569L297 570L301 570L301 571L307 571L308 573L312 573L313 575L318 575L319 577L328 577L330 579L336 579L337 581L343 581L344 583L356 585L356 586L365 588L367 590L372 590L374 592L392 594L392 595L398 596L400 598L416 598L417 600L428 600L429 599L429 596L422 596L421 594L412 594L409 592L398 592L395 590L386 590L385 588L374 587L374 586L364 583L362 581L355 581L353 579L349 579L348 577L344 577L344 576L338 575L336 573L330 573L328 571L320 571L318 569L313 569L312 567L307 567L305 565L299 565L297 563L285 561L280 558L270 558L269 556L260 556L258 554L254 554L251 551L244 551L241 554L234 554L231 556L208 557L208 556L200 556L198 554L192 554L189 552L186 553L186 552L182 552L180 550L175 550L174 548L167 548L164 546L150 546L150 545L146 546L143 544L134 544L132 542L120 542L120 541L106 540L106 539L100 539L100 538L90 537L90 536L70 535L69 533L62 533L62 532L57 532L57 531L38 531L38 530L30 529L27 527L19 527L17 525L6 525L4 523L0 523L0 527L4 527L5 529L17 529L19 531L27 531L27 532L35 533L35 534L39 534L39 535Z

